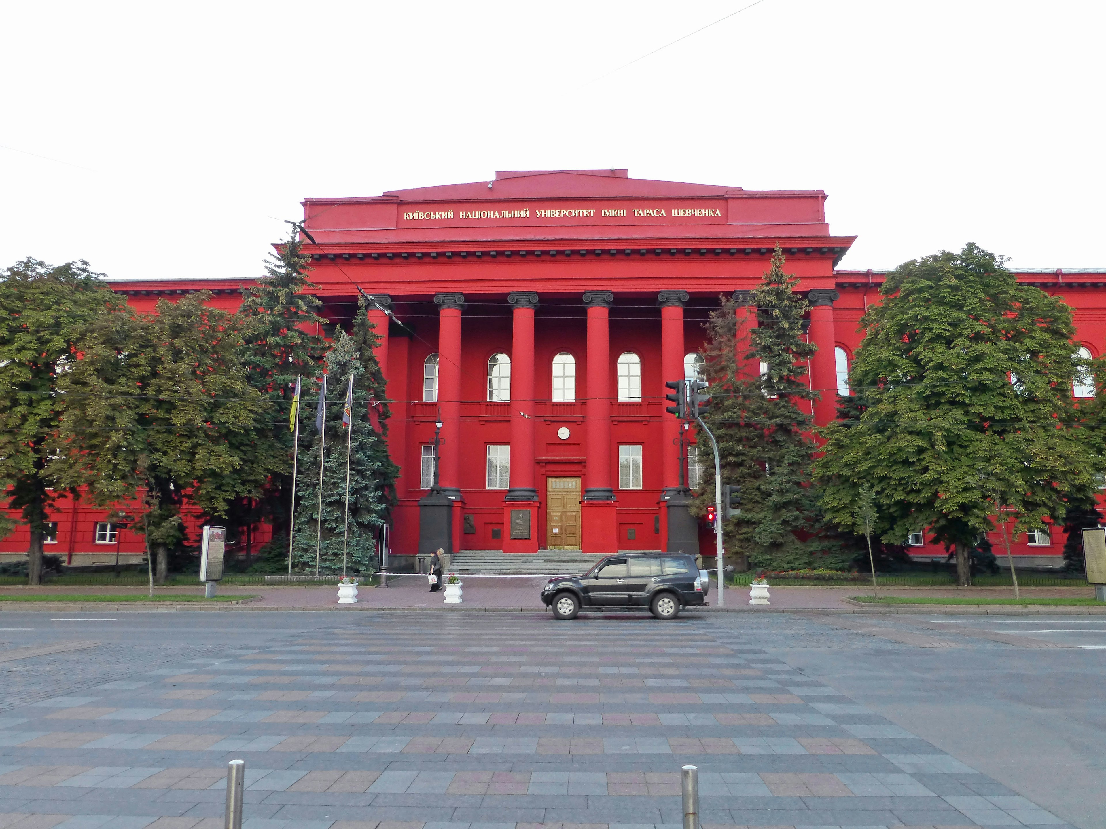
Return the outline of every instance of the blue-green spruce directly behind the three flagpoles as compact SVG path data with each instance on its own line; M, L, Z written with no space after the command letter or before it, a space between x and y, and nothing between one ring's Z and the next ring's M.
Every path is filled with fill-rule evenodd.
M320 438L300 453L301 475L296 500L293 564L301 569L315 567L316 539L321 539L321 571L347 568L368 573L376 555L376 534L387 520L394 501L398 472L388 457L385 439L388 408L384 378L373 354L376 335L359 304L354 336L340 330L326 354L326 445L323 460L322 527L319 525ZM342 423L349 376L354 378L352 423ZM322 386L322 372L315 378ZM317 393L317 391L316 391ZM311 407L305 406L304 411ZM367 417L366 417L367 416ZM375 421L375 424L374 424ZM352 429L347 431L347 429ZM301 438L304 429L301 427ZM349 441L349 520L346 545L346 441ZM311 470L315 470L312 474Z

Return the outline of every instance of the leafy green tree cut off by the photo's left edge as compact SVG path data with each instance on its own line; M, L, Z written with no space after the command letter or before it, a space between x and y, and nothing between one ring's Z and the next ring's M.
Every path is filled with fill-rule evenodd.
M30 531L29 583L42 580L42 543L55 482L48 443L71 402L59 380L72 366L81 335L93 319L123 307L88 263L51 266L25 259L0 277L0 487ZM76 497L77 493L71 493ZM0 515L0 534L11 522Z

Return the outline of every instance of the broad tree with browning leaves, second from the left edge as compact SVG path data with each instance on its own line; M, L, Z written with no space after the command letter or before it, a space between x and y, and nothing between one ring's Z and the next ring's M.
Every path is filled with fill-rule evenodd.
M81 405L62 417L50 471L100 505L135 510L152 592L155 558L164 584L168 552L184 541L185 501L225 515L232 499L260 494L280 460L264 453L272 403L247 379L233 316L209 298L95 321L61 382Z

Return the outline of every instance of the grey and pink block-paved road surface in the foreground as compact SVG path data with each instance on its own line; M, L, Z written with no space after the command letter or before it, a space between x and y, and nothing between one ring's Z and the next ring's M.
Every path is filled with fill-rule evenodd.
M936 631L910 618L865 619L864 630L709 612L2 621L0 829L215 829L226 764L238 758L249 829L675 829L687 763L700 769L707 827L1103 825L1087 808L1100 802L1100 776L1089 800L1057 783L1045 808L1019 790L1016 772L1000 783L1001 766L985 774L988 758L967 763L917 733L968 746L970 723L948 734L921 718L911 731L857 701L883 693L890 711L895 688L916 700L942 670L956 696L964 683L951 674L988 664L1008 682L1024 663L1032 684L1041 660L1066 660L1055 664L1102 688L1098 650L987 638L990 621ZM911 672L916 688L904 688ZM967 688L1001 706L985 682ZM957 699L928 702L940 720ZM1084 772L1095 774L1068 776L1082 783Z

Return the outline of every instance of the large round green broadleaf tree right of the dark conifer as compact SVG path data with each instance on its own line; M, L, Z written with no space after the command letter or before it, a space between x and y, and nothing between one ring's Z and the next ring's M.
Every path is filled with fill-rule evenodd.
M864 405L823 430L822 507L848 525L870 485L877 534L928 529L969 585L995 499L1018 528L1044 527L1102 468L1072 399L1071 311L975 244L899 265L880 293L849 376Z

